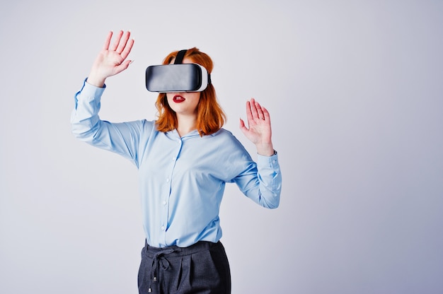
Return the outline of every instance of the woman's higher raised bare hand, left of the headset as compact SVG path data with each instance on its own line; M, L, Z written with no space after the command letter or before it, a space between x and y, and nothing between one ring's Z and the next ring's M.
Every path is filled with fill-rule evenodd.
M105 85L106 78L114 76L130 66L132 61L126 60L132 45L134 45L134 39L130 39L130 35L130 32L120 30L113 45L110 45L113 32L108 33L103 49L98 54L88 75L86 80L88 83L101 88Z

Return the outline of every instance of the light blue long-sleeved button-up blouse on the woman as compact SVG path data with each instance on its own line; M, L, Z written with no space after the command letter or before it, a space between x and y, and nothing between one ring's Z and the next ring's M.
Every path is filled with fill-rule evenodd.
M84 83L75 95L72 132L81 141L118 153L139 170L146 241L154 247L188 247L222 237L219 208L226 182L265 208L277 208L282 175L277 154L257 163L226 129L209 136L157 131L145 119L100 120L103 88Z

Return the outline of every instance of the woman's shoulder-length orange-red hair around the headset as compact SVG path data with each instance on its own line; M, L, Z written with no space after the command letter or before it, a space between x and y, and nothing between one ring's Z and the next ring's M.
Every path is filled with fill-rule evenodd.
M176 58L177 53L178 51L171 52L163 60L163 64L170 64ZM214 67L211 57L195 47L188 49L183 58L191 59L192 62L200 64L205 67L208 73L211 73ZM156 107L159 111L159 117L156 120L157 129L163 132L176 129L178 127L176 112L169 106L166 93L159 94L156 100ZM197 130L200 136L214 134L222 128L225 121L226 114L224 114L222 107L217 102L214 86L212 86L212 83L209 83L207 88L200 92L200 101L197 105Z

